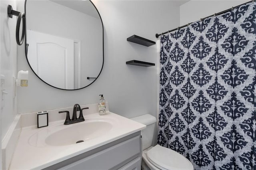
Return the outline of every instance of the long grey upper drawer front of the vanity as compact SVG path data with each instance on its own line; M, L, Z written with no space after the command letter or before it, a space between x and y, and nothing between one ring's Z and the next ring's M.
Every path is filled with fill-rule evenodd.
M105 150L87 156L61 170L107 170L141 152L140 136L135 136Z

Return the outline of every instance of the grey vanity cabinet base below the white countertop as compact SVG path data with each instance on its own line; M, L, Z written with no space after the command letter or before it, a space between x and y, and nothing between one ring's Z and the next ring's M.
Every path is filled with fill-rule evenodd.
M140 170L141 159L142 143L139 131L44 170Z

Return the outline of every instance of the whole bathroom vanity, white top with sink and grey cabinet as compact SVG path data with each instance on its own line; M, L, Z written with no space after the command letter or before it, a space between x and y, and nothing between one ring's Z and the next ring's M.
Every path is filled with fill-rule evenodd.
M85 107L85 121L72 125L63 125L63 109L48 111L49 126L43 128L31 125L35 113L22 114L9 169L140 170L140 130L146 126L109 111L100 116L97 105Z

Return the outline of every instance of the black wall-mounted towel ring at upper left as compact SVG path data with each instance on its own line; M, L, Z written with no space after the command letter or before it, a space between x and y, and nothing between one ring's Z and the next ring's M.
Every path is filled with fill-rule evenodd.
M22 12L18 12L15 10L12 10L12 6L8 5L8 10L7 10L8 16L12 18L13 15L18 16L17 24L16 24L16 42L18 45L22 45L25 37L25 29L26 29L26 22L25 18L26 15ZM21 39L20 39L20 22L22 20L22 34L21 34Z

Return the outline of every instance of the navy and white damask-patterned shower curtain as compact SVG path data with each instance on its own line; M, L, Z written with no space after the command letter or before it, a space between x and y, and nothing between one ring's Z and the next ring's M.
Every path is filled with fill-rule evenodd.
M256 3L161 36L158 144L195 170L256 170Z

